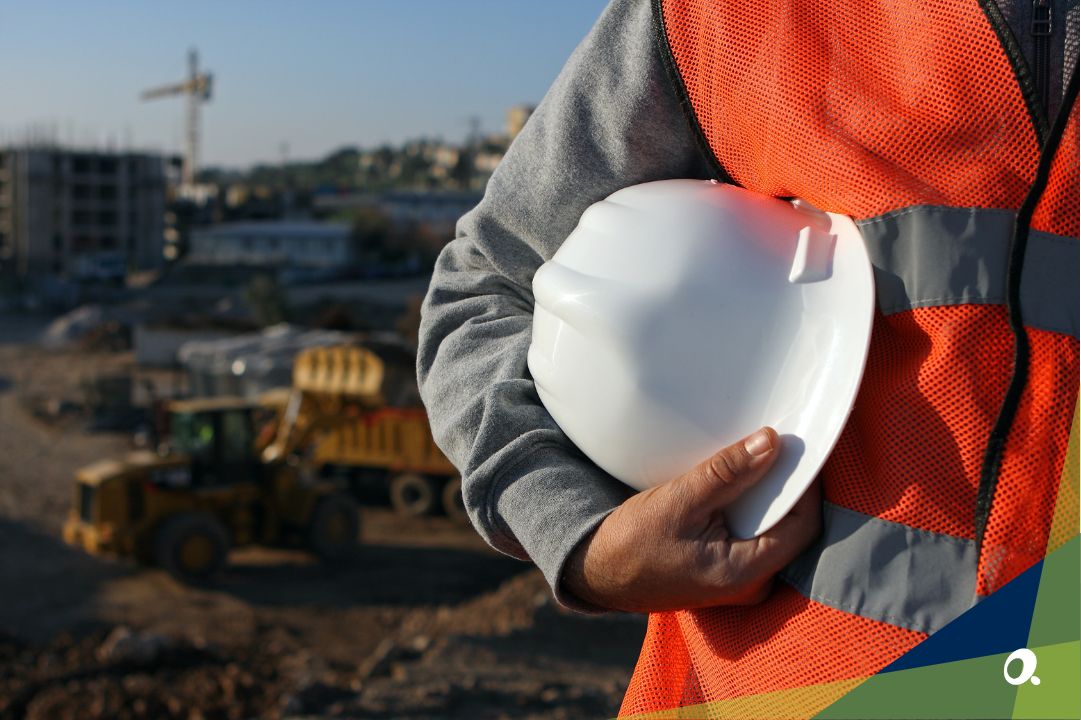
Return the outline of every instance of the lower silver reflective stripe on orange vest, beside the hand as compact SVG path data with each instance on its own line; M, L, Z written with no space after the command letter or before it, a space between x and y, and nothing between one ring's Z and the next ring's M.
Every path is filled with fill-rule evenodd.
M976 543L825 504L818 542L782 571L804 597L934 632L976 599Z

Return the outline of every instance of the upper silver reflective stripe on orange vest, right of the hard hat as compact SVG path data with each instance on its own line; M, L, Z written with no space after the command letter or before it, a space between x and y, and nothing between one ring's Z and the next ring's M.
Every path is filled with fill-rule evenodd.
M933 305L1005 303L1014 213L917 205L857 223L884 315ZM1022 272L1026 325L1078 336L1078 240L1029 234Z

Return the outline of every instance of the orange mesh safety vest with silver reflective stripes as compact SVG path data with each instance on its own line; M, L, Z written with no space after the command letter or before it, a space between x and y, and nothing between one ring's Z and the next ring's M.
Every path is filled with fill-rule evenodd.
M995 0L654 4L718 176L854 217L878 312L820 539L651 615L620 715L866 677L1040 561L1079 375L1076 92L1046 117Z

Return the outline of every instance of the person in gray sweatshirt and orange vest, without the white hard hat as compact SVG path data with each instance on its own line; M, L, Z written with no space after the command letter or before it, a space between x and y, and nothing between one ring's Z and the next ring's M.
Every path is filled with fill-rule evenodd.
M1079 374L1077 26L1076 0L615 0L461 221L423 307L432 429L489 543L571 608L651 613L623 712L870 675L1044 556ZM678 177L850 215L875 265L820 486L751 541L718 510L775 432L632 495L526 372L537 267L591 203Z

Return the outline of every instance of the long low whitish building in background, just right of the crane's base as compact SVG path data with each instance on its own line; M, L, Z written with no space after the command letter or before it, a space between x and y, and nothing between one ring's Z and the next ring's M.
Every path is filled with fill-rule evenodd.
M192 230L188 261L209 265L343 268L352 259L343 223L269 221Z

